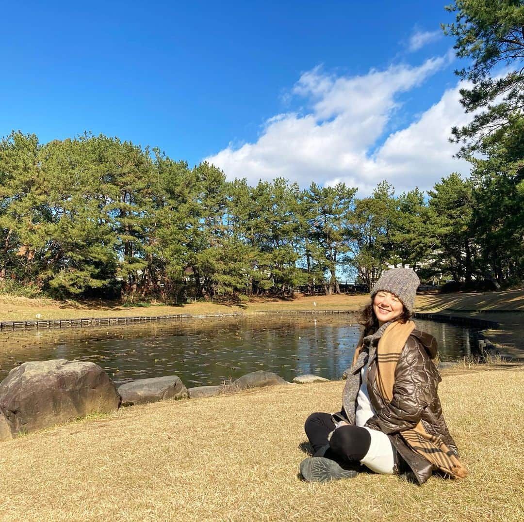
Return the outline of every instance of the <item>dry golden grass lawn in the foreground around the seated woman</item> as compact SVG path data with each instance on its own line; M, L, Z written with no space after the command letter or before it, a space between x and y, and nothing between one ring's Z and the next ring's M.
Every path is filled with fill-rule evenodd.
M524 372L446 376L441 398L470 475L418 487L297 477L304 419L342 382L119 410L1 445L2 520L522 520Z

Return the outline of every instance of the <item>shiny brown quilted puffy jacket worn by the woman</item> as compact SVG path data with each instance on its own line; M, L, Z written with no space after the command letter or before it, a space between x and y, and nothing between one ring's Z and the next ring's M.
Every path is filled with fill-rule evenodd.
M399 432L414 428L419 421L422 421L426 431L440 436L445 445L457 457L459 455L442 415L442 406L437 393L441 376L432 361L437 351L436 340L433 336L419 330L411 332L395 369L393 398L389 404L383 402L376 382L377 344L378 338L367 347L370 356L370 360L367 361L367 390L376 414L367 421L366 426L383 431L389 436L397 450L396 471L422 484L429 479L434 468L430 462L406 445ZM367 354L365 357L358 358L359 363L357 361L353 366L348 379L360 379L360 370L366 359L368 359ZM351 408L347 408L347 399L348 397L344 397L344 409L346 413L349 413L348 409L352 409L354 421L355 402ZM356 395L353 401L356 401Z

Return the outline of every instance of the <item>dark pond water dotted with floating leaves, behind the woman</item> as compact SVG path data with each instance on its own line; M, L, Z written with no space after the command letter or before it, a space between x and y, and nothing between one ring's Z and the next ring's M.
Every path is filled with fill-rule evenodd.
M0 380L26 361L79 359L102 366L117 384L178 375L187 387L221 384L256 370L287 381L314 373L340 379L360 327L352 315L193 318L111 328L30 331L0 338ZM471 354L472 329L417 319L436 337L441 360Z

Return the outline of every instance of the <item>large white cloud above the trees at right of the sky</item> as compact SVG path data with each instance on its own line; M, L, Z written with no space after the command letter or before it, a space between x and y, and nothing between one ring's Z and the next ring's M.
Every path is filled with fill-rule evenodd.
M223 169L228 179L246 177L250 184L277 176L301 186L343 181L358 187L362 196L387 179L397 192L416 185L428 190L453 170L468 171L467 163L452 158L457 146L448 141L451 127L469 117L459 104L458 86L375 147L399 108L398 94L419 86L448 60L434 58L417 67L395 65L353 77L315 68L293 87L310 105L309 113L274 116L255 143L230 145L206 160Z

